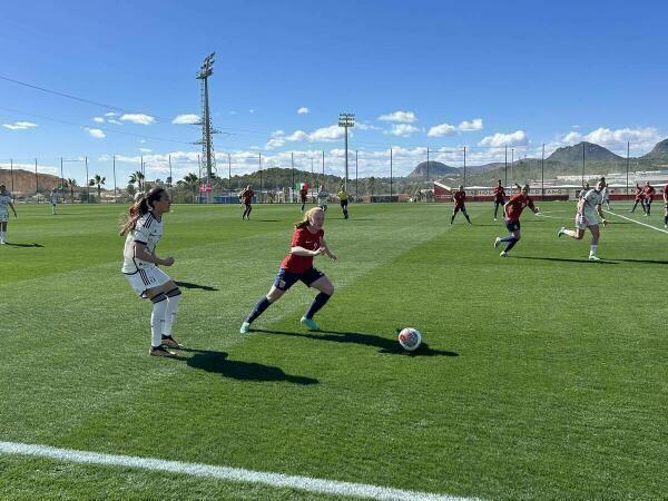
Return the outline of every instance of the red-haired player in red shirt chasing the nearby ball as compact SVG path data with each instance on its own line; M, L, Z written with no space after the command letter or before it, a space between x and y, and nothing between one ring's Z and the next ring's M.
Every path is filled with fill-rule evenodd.
M324 273L313 267L313 258L326 254L331 259L336 261L336 256L332 254L325 242L324 222L325 212L320 207L313 207L306 210L304 219L295 224L289 253L281 263L274 285L268 294L257 302L242 324L239 330L242 334L250 331L250 324L297 281L302 281L307 287L320 291L301 320L301 323L310 331L320 331L313 315L330 301L334 294L334 285Z

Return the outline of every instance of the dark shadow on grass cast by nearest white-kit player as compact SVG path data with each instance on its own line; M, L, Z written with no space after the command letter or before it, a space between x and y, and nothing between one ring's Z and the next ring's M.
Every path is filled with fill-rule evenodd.
M229 360L225 352L213 352L207 350L183 348L180 352L193 352L193 356L176 356L184 361L186 365L193 369L220 374L224 377L230 377L239 381L284 381L293 384L317 384L318 381L313 377L297 376L286 374L279 367L258 364L256 362L240 362Z

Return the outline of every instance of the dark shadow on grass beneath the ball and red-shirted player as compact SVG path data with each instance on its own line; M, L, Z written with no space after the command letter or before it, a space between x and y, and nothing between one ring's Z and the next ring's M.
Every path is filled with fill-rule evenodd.
M320 332L291 332L274 331L268 328L252 328L250 332L264 332L267 334L281 334L284 336L306 337L315 341L330 341L334 343L355 343L380 348L379 353L392 355L412 355L412 356L459 356L456 352L446 352L444 350L434 350L429 347L428 343L422 343L414 352L406 352L401 347L399 341L389 340L375 334L365 334L360 332L341 331L320 331Z

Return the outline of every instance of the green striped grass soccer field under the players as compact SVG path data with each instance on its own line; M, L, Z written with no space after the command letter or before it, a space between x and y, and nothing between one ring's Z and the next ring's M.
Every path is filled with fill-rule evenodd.
M0 441L482 499L662 498L668 235L610 217L590 263L589 235L556 236L574 205L542 208L503 259L488 204L472 227L450 205L332 206L324 332L301 327L314 294L297 284L244 336L298 206L249 222L174 206L158 254L177 259L187 350L167 360L119 273L126 208L19 205L20 245L0 247ZM660 210L632 216L662 228ZM407 325L415 355L395 341ZM342 497L0 454L0 498Z

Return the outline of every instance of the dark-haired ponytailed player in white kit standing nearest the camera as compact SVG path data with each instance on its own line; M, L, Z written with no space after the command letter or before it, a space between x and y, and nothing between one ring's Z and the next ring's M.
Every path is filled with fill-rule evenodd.
M121 272L140 297L153 303L150 315L151 344L149 355L176 356L169 347L181 347L171 336L181 292L157 265L171 266L174 257L156 255L163 236L163 216L169 212L169 194L165 188L153 188L135 204L120 229L126 235Z

